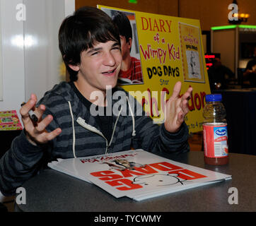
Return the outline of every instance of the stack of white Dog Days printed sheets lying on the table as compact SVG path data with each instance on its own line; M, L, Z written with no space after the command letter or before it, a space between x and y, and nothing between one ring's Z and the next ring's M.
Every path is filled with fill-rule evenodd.
M48 166L136 201L231 179L231 175L175 162L145 150L58 159Z

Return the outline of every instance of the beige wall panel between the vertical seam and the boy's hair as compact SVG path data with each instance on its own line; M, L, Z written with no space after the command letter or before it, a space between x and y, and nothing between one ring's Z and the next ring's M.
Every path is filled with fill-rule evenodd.
M45 91L59 83L62 57L58 47L58 30L65 17L63 0L24 0L26 21L25 40L25 99L31 93L42 97Z

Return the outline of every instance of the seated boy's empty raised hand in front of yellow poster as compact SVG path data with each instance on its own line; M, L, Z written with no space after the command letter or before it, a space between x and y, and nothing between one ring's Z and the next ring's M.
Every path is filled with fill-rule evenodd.
M170 133L179 131L184 121L185 115L189 112L188 100L192 96L192 87L188 88L186 93L179 97L181 82L178 81L173 88L173 95L166 103L165 129Z

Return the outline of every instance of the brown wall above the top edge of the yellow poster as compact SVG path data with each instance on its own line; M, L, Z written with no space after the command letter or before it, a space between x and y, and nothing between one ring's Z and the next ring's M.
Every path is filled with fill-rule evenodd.
M182 18L199 19L202 30L210 30L213 26L228 25L228 5L233 0L137 0L137 4L129 4L128 0L76 0L76 8L96 6L97 4L117 8L157 13ZM238 0L240 13L250 13L248 23L256 25L255 0Z

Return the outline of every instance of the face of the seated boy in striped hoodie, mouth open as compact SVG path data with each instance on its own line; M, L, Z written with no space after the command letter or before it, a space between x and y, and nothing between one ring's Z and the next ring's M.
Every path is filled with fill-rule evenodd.
M118 42L97 42L92 49L81 52L81 64L71 66L78 71L78 83L82 81L88 92L106 90L117 85L122 54Z

